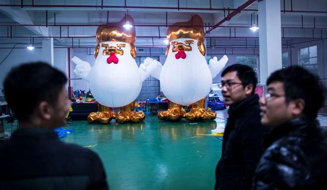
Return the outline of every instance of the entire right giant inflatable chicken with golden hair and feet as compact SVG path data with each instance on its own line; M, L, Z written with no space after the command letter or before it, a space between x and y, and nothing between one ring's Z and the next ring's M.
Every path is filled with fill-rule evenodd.
M185 27L184 27L185 26ZM167 29L166 61L151 74L160 80L163 94L169 100L168 111L158 114L160 119L188 120L215 119L216 113L204 109L205 97L210 91L212 78L226 65L228 58L223 56L210 60L206 58L203 21L194 15L188 22L178 22ZM146 64L157 62L151 58ZM191 111L184 113L181 107L190 105Z

